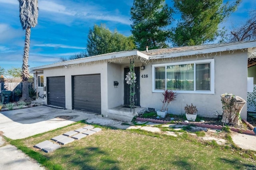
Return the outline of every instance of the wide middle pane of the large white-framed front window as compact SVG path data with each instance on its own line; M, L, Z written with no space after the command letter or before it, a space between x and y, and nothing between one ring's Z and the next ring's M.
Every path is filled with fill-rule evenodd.
M194 90L194 64L168 65L167 89Z

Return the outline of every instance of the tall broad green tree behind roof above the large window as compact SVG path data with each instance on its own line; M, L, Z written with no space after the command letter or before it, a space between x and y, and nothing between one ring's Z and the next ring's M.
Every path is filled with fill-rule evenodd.
M223 0L174 0L181 20L173 29L174 46L201 45L224 34L218 29L220 23L237 9L241 0L233 4Z

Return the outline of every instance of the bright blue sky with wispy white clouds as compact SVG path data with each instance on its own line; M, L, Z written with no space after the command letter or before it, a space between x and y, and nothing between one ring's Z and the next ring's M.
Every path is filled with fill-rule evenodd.
M171 0L166 2L172 4ZM111 31L117 29L130 36L132 3L132 0L38 0L38 25L31 29L30 37L30 67L56 63L60 57L84 51L88 30L94 24L103 23ZM20 24L18 0L0 0L0 9L0 67L6 70L21 67L25 31ZM256 0L242 0L222 26L227 30L239 26L252 10L256 10Z

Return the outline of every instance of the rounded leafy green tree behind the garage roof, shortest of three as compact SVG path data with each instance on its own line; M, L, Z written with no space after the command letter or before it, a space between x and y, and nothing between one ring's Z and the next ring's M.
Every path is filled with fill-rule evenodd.
M135 49L133 38L126 37L116 30L112 33L105 25L94 25L89 30L87 40L88 56Z

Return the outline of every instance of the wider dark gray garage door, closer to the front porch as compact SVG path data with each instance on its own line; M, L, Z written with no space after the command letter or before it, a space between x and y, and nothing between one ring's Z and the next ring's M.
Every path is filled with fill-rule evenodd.
M73 76L73 109L101 113L100 74Z

